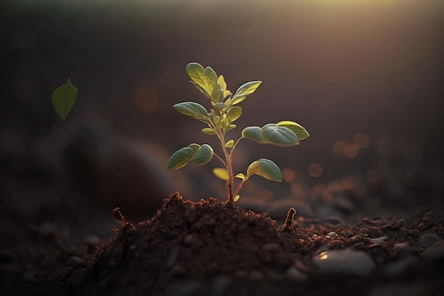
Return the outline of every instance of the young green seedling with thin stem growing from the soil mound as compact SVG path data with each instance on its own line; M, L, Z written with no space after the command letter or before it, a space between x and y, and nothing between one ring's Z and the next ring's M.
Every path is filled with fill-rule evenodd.
M187 65L187 73L194 87L210 100L211 109L207 111L204 106L196 102L175 104L173 108L206 124L202 133L216 135L221 142L223 157L214 153L209 144L192 143L177 150L171 156L167 163L167 170L178 170L191 161L194 165L205 165L209 163L213 156L216 156L222 163L223 168L214 168L213 173L227 182L227 204L232 207L240 197L239 191L242 185L252 175L260 175L267 180L281 182L282 174L278 166L272 160L265 158L253 161L248 166L245 174L239 172L234 175L233 152L243 138L276 146L298 145L299 141L310 136L306 129L294 121L280 121L277 124L265 124L262 127L248 126L243 129L242 136L238 140L228 139L226 138L227 132L236 127L233 122L239 119L242 114L242 108L237 105L255 92L262 81L247 82L241 85L233 94L227 89L223 76L218 77L211 67L204 68L197 62L190 62ZM240 179L237 187L234 187L234 178Z

